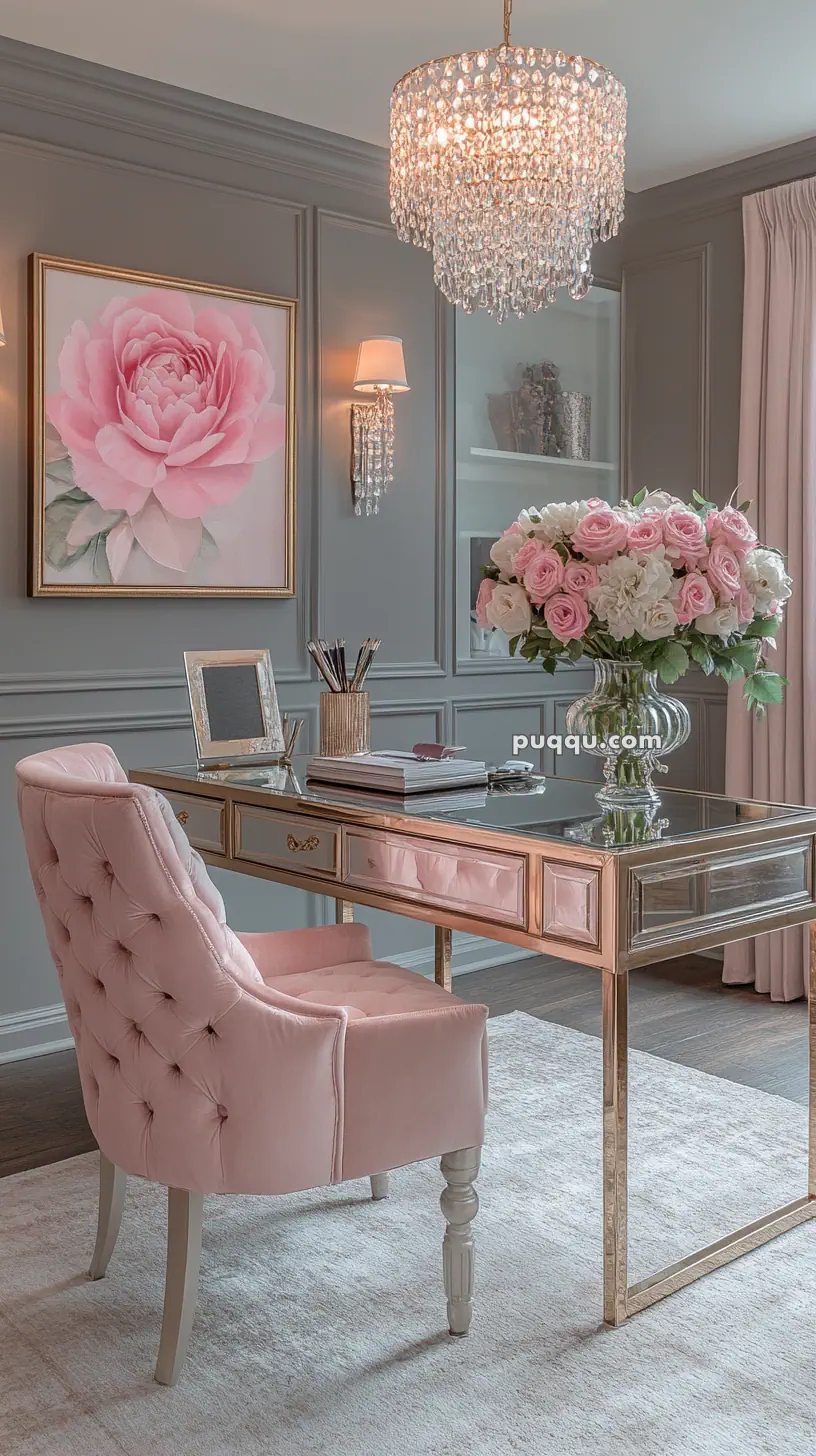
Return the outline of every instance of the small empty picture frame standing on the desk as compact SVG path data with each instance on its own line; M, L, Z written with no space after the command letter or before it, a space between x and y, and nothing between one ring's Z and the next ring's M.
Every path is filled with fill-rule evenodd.
M268 648L185 652L184 670L201 769L216 763L258 763L261 757L283 754L283 724Z

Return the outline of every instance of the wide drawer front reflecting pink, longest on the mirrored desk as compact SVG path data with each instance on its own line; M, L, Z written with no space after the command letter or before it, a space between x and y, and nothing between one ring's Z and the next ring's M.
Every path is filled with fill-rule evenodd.
M347 885L526 926L526 859L469 844L344 830Z

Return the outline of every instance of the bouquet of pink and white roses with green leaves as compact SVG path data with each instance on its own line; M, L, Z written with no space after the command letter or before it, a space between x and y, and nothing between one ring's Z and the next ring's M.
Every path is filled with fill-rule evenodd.
M791 582L746 510L718 508L697 491L691 507L641 491L618 507L590 499L522 511L491 547L476 620L546 673L590 657L641 664L664 683L692 662L726 681L745 676L748 705L764 712L782 700L785 680L765 652Z

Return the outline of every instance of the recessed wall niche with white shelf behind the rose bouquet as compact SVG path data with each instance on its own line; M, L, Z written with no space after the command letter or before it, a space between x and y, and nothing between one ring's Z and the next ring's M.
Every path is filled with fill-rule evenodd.
M523 507L619 498L621 296L596 285L580 303L562 294L501 325L484 310L456 310L455 349L456 657L506 668L506 639L474 614L490 543ZM529 365L533 387L525 389Z

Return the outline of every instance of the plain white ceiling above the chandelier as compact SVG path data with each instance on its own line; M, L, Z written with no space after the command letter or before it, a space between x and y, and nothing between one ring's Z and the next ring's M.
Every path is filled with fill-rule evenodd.
M815 0L514 0L513 38L590 55L629 95L627 185L816 132ZM501 0L0 0L0 32L388 143L392 84L495 45Z

